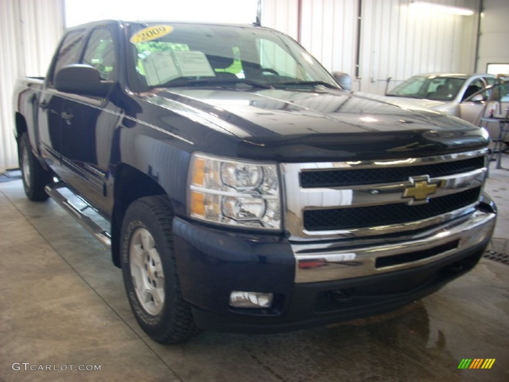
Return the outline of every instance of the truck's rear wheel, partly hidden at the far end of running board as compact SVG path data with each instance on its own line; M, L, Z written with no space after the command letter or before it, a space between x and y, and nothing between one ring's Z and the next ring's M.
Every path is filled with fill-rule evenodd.
M41 163L32 152L29 136L25 133L19 140L19 167L23 175L23 188L26 197L33 201L42 201L49 198L44 187L52 180L52 175L41 166Z

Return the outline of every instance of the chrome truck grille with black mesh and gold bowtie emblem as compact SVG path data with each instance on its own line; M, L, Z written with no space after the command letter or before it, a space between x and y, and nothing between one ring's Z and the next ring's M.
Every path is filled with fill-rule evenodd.
M418 230L471 211L486 150L398 160L282 163L291 240Z

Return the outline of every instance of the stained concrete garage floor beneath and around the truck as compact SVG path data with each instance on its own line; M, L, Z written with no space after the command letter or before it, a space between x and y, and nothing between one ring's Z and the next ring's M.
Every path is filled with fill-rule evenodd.
M509 249L508 187L509 171L491 172L498 251ZM508 265L482 259L376 318L280 335L204 332L163 346L139 329L108 251L56 203L28 201L20 180L0 183L0 216L0 381L509 380ZM464 358L496 361L459 370ZM30 370L40 365L67 370Z

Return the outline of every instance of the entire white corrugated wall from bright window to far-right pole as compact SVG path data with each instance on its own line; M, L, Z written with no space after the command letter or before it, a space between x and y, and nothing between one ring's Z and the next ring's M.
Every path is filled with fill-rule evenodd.
M474 70L480 0L428 1L467 7L476 13L416 14L408 7L410 0L265 0L262 24L300 37L299 42L329 71L354 77L361 2L360 78L353 78L352 89L383 94L388 77L393 87L417 73ZM300 33L295 26L299 4Z

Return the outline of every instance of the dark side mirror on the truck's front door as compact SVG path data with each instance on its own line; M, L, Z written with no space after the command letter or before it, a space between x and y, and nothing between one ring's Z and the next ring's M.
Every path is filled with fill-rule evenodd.
M72 64L56 73L53 85L60 92L105 97L113 84L113 81L101 80L93 66Z

